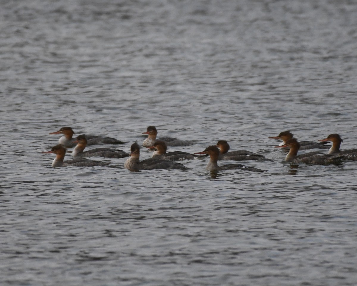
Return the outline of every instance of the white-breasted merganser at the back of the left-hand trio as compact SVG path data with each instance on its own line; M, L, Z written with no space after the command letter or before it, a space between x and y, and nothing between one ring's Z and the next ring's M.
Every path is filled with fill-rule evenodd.
M73 134L74 131L72 130L71 127L62 127L60 130L56 132L51 132L51 134L63 134L63 136L58 139L58 143L62 144L64 147L67 148L72 148L76 146L73 142ZM96 144L124 144L125 142L122 142L120 140L117 140L115 138L111 137L100 137L100 136L95 136L95 135L86 135L87 138L87 145L96 145Z

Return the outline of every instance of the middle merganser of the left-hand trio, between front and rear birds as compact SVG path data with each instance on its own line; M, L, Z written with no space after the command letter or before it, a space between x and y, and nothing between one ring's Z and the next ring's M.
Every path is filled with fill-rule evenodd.
M73 157L106 157L106 158L123 158L129 157L129 154L122 150L110 149L110 148L95 148L89 151L84 151L87 146L87 138L85 134L77 136L77 140L72 143L76 143L76 147L72 150Z

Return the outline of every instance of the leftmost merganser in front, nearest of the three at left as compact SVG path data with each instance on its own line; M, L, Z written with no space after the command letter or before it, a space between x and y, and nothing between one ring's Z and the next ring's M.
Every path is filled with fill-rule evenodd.
M90 161L86 159L73 159L70 161L63 162L63 159L66 155L66 148L61 144L58 144L52 147L51 151L41 152L41 153L54 153L56 158L52 161L52 167L92 167L92 166L104 166L109 163L100 162L100 161Z

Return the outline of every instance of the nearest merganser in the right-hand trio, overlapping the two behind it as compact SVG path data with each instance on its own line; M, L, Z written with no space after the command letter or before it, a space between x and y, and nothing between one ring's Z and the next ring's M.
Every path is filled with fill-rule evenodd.
M336 163L342 159L342 157L336 157L329 154L323 154L320 152L309 152L297 156L299 151L300 144L295 138L289 139L286 141L285 145L275 146L275 148L290 148L289 153L285 157L285 161L293 163L306 163L306 164L326 164L326 163Z

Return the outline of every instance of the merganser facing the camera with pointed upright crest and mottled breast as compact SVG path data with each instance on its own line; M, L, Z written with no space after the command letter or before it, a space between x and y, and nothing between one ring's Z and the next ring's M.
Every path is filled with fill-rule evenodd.
M139 170L152 170L152 169L180 169L188 170L186 166L176 162L170 162L166 160L149 158L140 162L140 148L139 145L135 142L130 147L130 158L127 159L124 163L124 168L130 171L139 171Z

